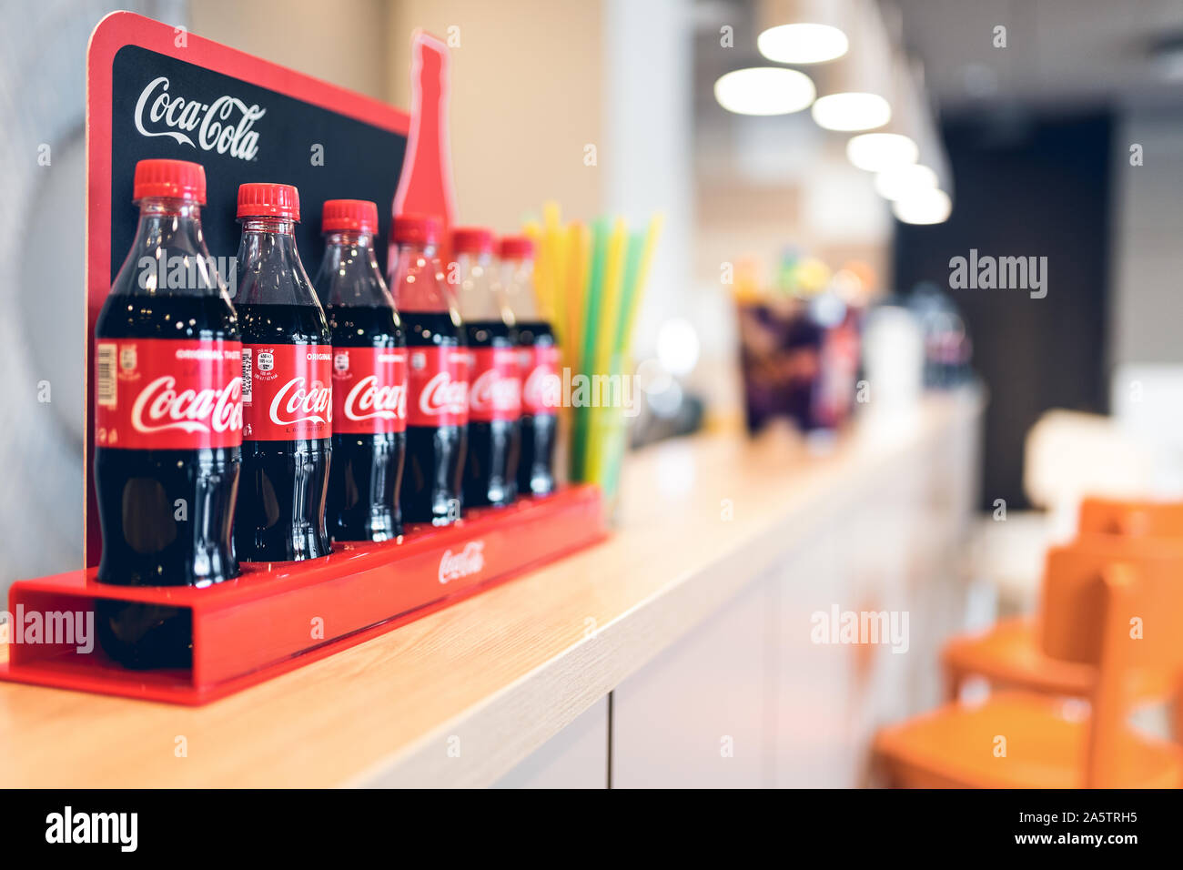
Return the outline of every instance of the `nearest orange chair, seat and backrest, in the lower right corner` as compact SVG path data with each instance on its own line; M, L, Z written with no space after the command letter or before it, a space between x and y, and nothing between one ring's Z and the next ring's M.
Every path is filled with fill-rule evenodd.
M874 742L888 782L907 787L1183 787L1183 747L1132 732L1134 675L1183 666L1183 546L1081 539L1048 553L1040 646L1086 669L1087 716L1033 691L948 703Z

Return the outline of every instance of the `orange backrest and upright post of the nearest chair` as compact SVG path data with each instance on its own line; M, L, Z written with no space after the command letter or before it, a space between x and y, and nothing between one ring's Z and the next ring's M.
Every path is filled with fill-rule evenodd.
M1183 543L1099 535L1053 548L1039 624L1048 656L1097 669L1085 786L1131 785L1131 671L1183 674Z

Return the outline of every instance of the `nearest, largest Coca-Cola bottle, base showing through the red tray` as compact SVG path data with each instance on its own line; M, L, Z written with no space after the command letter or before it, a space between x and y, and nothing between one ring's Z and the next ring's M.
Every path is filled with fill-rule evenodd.
M207 586L238 575L241 342L206 249L198 163L142 160L140 225L95 324L98 580ZM188 666L189 611L101 599L99 642L131 668Z

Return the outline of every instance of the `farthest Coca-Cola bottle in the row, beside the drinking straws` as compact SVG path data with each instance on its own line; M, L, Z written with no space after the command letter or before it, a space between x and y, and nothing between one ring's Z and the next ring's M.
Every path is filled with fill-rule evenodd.
M534 290L534 241L524 236L508 236L502 239L499 252L502 308L513 324L522 379L518 491L544 496L555 489L555 443L562 392L558 348L550 324L538 312Z

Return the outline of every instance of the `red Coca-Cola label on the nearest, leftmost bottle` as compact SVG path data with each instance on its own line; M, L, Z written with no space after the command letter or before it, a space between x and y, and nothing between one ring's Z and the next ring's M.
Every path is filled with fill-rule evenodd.
M200 450L243 443L243 346L193 339L95 342L95 444Z

